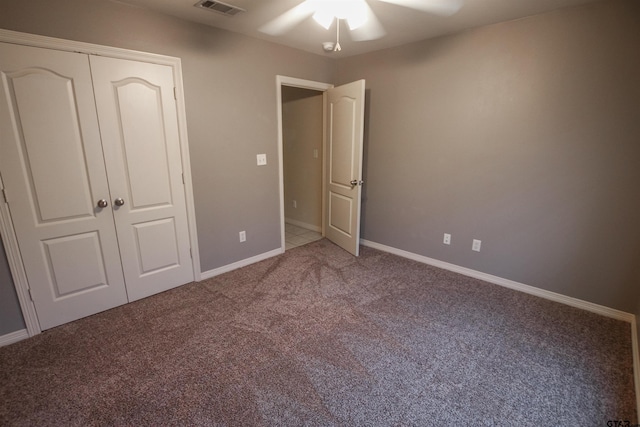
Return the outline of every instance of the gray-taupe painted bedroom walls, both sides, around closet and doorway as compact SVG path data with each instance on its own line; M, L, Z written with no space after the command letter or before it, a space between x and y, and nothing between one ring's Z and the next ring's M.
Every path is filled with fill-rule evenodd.
M2 0L0 28L182 58L203 271L280 245L275 75L366 78L364 238L640 312L636 0L337 62L109 1Z

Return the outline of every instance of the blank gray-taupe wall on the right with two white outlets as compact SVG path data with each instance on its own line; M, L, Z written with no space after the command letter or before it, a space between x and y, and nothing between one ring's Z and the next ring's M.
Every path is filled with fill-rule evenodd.
M370 97L362 237L635 313L639 46L612 0L340 60Z

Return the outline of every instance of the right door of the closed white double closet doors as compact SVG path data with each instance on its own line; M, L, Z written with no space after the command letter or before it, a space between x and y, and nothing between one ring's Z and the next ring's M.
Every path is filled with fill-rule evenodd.
M173 70L90 59L122 267L134 301L193 280Z

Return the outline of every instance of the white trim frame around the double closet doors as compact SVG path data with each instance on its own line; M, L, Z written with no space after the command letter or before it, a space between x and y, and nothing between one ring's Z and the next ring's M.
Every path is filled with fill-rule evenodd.
M0 42L77 52L87 55L102 55L139 62L149 62L153 64L167 65L173 69L173 83L175 88L176 110L178 114L178 133L180 137L180 154L187 205L187 223L189 226L189 240L191 243L191 264L194 280L200 281L202 279L200 271L200 251L198 249L193 185L191 181L191 163L189 158L189 140L187 138L184 87L182 84L182 62L180 58L3 29L0 29ZM4 190L1 173L2 171L0 171L0 187ZM10 198L11 196L9 195L9 199ZM27 275L23 267L22 256L20 255L18 240L13 229L11 214L9 212L8 205L4 200L0 200L0 233L2 234L2 241L7 253L9 269L13 278L18 301L20 302L24 323L27 328L27 333L31 337L39 334L42 330L40 329L40 323L38 322L35 306L29 295L29 282L27 281Z

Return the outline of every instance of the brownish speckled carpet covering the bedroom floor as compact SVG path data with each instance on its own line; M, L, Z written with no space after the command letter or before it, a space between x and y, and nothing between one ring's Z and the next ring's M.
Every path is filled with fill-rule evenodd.
M0 425L635 423L630 325L327 240L0 348Z

